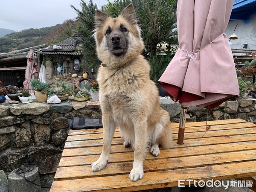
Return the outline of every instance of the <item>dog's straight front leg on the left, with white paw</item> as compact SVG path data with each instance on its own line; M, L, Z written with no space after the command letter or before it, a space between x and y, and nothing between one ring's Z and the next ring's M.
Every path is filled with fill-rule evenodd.
M105 168L109 160L110 147L113 135L116 129L113 117L110 113L102 114L103 123L103 148L98 160L92 164L93 172L100 171Z

